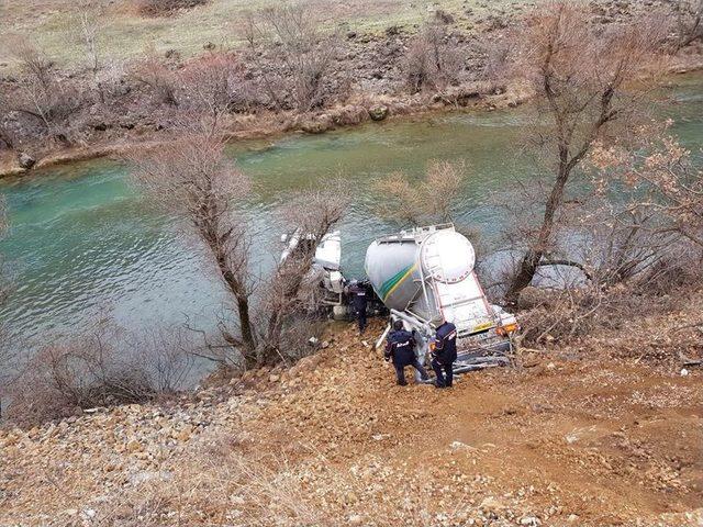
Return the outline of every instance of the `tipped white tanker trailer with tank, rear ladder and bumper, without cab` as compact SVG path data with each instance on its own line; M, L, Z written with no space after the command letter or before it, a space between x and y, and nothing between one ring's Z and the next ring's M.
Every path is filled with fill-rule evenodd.
M475 264L473 246L453 224L401 231L369 246L365 266L373 291L392 321L415 332L421 361L447 319L457 327L456 373L510 363L517 322L488 301Z

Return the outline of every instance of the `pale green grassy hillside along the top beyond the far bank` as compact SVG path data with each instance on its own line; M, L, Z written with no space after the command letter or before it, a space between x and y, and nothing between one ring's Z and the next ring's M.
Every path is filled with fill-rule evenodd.
M444 0L439 2L406 0L313 0L315 11L330 26L343 31L381 32L389 25L420 23L428 13L444 10L457 23L469 29L489 10L524 2L506 0ZM82 59L78 22L79 2L72 0L30 0L3 2L2 33L30 37L62 65ZM100 16L99 45L102 54L123 59L148 47L165 52L176 49L183 56L202 52L208 43L236 47L243 43L243 19L247 11L276 4L276 0L211 0L207 5L180 11L172 16L140 15L134 0L112 2ZM0 65L10 57L0 47Z

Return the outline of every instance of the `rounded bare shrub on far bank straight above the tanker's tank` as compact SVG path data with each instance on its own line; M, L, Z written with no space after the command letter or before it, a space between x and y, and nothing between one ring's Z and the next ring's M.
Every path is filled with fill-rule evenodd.
M443 89L456 81L464 61L446 26L433 21L413 37L402 67L408 87L416 93L425 88Z

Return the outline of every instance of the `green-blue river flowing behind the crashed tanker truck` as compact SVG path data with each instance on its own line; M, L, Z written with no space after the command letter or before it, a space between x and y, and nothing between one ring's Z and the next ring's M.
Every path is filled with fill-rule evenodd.
M673 80L662 112L673 119L681 142L700 152L703 77ZM532 125L527 110L454 113L232 146L228 155L254 182L248 213L255 271L264 272L280 253L275 211L287 192L339 177L353 194L339 226L344 271L361 274L368 244L394 229L376 214L371 183L394 170L419 177L431 159L466 161L462 210L467 222L490 236L500 218L489 192L535 170L517 146ZM0 321L22 346L75 334L105 311L127 329L186 318L212 328L222 288L197 244L182 235L185 225L149 210L124 166L97 160L37 171L0 182L0 192L11 223L0 253L15 284Z

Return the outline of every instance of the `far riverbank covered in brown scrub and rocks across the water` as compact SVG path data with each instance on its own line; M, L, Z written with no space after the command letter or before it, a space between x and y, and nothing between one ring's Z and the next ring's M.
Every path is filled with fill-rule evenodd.
M671 5L654 2L647 9L662 10L663 15ZM599 0L592 2L590 13L594 24L607 27L643 16L645 8ZM404 115L516 106L532 97L527 83L507 81L495 69L523 15L520 3L511 9L482 7L480 14L471 9L428 11L425 24L432 24L435 40L423 45L437 46L436 53L451 69L437 78L432 76L436 72L412 70L416 67L411 65L412 56L419 53L426 25L335 32L330 41L332 55L325 58L327 69L319 79L314 100L305 103L291 94L294 72L281 64L280 43L248 51L208 43L204 53L188 57L176 46L163 54L122 59L111 64L110 71L105 63L101 66L105 70L99 72L75 64L59 68L40 49L24 49L25 55L41 58L37 64L48 68L42 75L49 80L37 91L31 76L18 75L9 63L4 68L0 65L0 100L7 102L0 104L4 106L0 108L0 177L168 142L178 122L192 119L203 108L212 110L213 101L224 104L225 127L233 141L320 134ZM315 35L332 38L325 32ZM320 58L305 60L314 64ZM695 42L667 64L670 72L701 67L703 46ZM420 86L413 80L419 75Z

